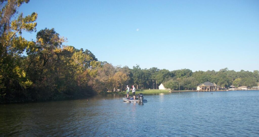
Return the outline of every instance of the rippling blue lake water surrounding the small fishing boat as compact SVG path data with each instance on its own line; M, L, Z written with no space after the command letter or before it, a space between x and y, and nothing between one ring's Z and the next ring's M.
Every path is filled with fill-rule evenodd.
M124 95L0 105L0 136L259 136L259 91Z

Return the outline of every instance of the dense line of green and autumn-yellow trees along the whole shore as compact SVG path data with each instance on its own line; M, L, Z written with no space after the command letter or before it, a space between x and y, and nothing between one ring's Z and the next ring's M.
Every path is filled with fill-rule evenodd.
M98 61L87 49L63 45L67 39L54 28L42 29L35 41L27 41L21 34L36 32L37 13L23 17L16 11L23 3L28 0L0 2L0 102L89 96L123 90L126 85L156 89L163 83L167 88L178 89L180 83L180 90L190 90L210 81L222 87L257 86L258 70L192 72L113 66Z

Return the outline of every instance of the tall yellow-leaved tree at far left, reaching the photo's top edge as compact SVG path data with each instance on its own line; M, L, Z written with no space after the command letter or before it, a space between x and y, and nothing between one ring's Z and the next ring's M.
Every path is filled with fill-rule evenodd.
M21 55L26 48L34 45L25 40L23 31L36 31L37 13L26 17L17 9L28 0L2 0L0 2L0 99L18 100L24 88L32 84L21 67ZM8 99L8 100L7 100Z

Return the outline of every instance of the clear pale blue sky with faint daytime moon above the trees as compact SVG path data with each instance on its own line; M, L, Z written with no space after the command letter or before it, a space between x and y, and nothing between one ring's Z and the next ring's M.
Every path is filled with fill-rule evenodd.
M64 45L114 66L170 71L259 70L259 1L31 0L37 31L54 28ZM23 33L35 39L36 33Z

